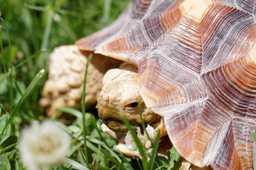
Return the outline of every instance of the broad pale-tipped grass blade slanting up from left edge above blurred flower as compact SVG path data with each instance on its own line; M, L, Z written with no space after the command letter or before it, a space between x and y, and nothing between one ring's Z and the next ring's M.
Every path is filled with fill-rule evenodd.
M32 80L32 82L30 83L29 87L26 89L26 91L24 92L24 94L21 96L19 102L17 103L17 105L15 106L14 110L12 111L8 121L6 122L6 125L4 126L2 132L0 133L0 138L3 135L3 132L6 130L8 124L11 122L13 116L15 116L15 114L17 113L17 111L20 110L21 105L23 104L23 102L25 102L25 100L28 98L28 96L30 94L32 94L32 92L34 91L39 79L43 76L44 74L44 69L39 71L38 74L36 75L36 77Z

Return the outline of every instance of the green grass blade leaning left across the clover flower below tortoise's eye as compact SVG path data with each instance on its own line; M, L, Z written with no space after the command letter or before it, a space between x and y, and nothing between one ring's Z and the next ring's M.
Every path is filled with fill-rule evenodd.
M123 116L122 117L122 121L124 122L125 126L128 128L128 130L130 130L131 132L131 136L133 137L134 139L134 142L136 143L139 151L140 151L140 154L142 156L142 165L143 165L143 169L144 170L148 170L148 161L147 161L147 158L145 156L145 152L144 152L144 149L143 149L143 146L141 145L140 143L140 140L138 138L138 136L136 135L136 133L134 132L134 129L131 128L131 125L130 125L130 122L128 121L128 119Z

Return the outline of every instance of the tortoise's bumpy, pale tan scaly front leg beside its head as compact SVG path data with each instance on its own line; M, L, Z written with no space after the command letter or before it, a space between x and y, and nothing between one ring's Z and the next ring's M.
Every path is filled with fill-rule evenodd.
M44 85L40 105L47 107L47 116L56 116L61 107L80 108L84 71L87 59L76 45L63 45L55 48L49 59L49 75ZM97 102L102 88L103 73L89 64L85 103Z

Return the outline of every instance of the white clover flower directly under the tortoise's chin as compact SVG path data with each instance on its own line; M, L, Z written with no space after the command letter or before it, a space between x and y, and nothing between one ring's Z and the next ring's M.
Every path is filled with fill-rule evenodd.
M154 142L157 137L157 132L150 125L148 125L148 127L146 128L146 131L148 133L150 140ZM150 158L148 155L151 155L153 151L151 141L148 139L148 136L146 135L145 131L144 131L144 134L142 135L140 131L140 127L137 127L137 132L138 132L137 136L140 139L141 145L144 147L144 152L146 153L147 160L149 161ZM140 159L142 158L142 156L140 155L139 149L137 147L137 144L134 142L134 139L130 131L128 131L125 137L125 147L128 150L130 150L133 156L137 156Z

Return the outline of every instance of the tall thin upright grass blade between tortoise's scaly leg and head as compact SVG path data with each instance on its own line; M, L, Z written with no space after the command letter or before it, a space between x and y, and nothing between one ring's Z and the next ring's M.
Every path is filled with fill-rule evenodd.
M87 167L90 167L90 165L89 165L89 161L88 161L88 151L87 151L87 144L86 144L86 136L87 136L86 130L85 130L85 123L86 123L85 109L86 108L85 108L84 100L85 100L85 93L86 93L85 86L86 86L87 70L88 70L88 65L89 65L92 57L93 57L93 55L91 54L87 59L87 64L86 64L85 73L84 73L84 85L83 85L83 94L82 94L82 122L83 122L83 134L84 134L84 155L86 158Z

